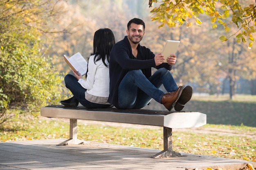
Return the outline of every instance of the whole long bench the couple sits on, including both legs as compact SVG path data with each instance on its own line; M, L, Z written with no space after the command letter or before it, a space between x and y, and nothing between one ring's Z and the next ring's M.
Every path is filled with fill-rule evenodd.
M70 139L58 145L81 144L77 139L77 120L96 120L128 124L162 126L164 128L164 150L153 158L176 157L182 154L172 149L172 129L193 128L206 124L206 115L199 112L157 111L146 109L87 109L85 107L65 107L49 105L41 107L41 116L70 119Z

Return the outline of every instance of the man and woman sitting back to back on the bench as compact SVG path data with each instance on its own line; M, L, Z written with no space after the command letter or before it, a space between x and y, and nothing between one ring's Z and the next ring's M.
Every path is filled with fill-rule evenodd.
M141 109L152 98L168 111L181 111L191 99L192 87L178 87L170 70L176 55L170 54L167 63L161 53L154 54L140 46L145 34L145 24L134 18L127 24L127 36L115 44L115 37L108 28L94 34L94 50L88 61L86 81L81 75L65 76L65 85L72 98L62 100L65 106L81 105L87 108ZM151 75L151 68L157 71ZM159 88L164 85L167 93Z

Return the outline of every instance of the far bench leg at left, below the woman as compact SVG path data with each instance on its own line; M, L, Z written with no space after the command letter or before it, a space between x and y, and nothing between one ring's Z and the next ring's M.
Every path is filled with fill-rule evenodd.
M70 139L61 142L58 145L77 145L83 143L82 140L77 139L77 119L70 119Z

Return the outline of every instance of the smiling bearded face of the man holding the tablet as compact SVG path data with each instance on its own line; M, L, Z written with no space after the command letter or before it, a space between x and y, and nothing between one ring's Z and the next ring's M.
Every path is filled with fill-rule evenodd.
M135 23L130 24L130 29L126 33L129 41L133 44L138 44L145 34L143 25L137 25Z

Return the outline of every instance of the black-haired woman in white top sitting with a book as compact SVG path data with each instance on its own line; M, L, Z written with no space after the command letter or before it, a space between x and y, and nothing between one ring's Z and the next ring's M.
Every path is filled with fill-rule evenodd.
M93 53L88 61L86 81L81 74L67 74L65 84L74 95L62 100L65 106L76 107L80 102L87 108L107 108L109 96L109 57L115 44L115 37L109 28L101 28L94 33Z

